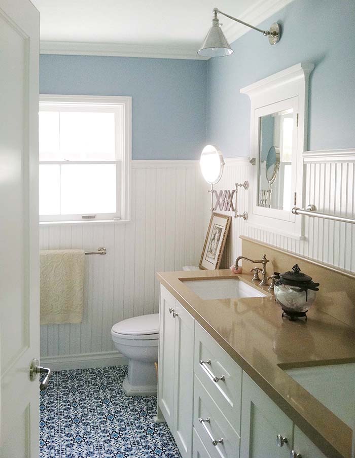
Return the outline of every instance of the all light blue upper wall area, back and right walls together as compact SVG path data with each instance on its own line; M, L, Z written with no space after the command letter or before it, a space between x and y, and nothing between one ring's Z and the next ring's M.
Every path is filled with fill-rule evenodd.
M251 30L234 54L208 62L43 55L41 93L131 95L133 159L197 159L206 143L245 156L250 100L240 88L312 61L308 147L355 147L354 0L295 0L262 27L276 20L276 46Z

